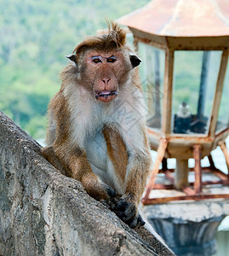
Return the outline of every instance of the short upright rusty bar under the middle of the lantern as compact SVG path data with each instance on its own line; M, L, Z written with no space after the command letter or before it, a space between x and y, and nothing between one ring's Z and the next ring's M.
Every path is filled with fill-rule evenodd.
M196 144L193 146L193 158L195 160L194 172L195 172L195 182L194 190L197 195L202 193L202 170L200 165L201 160L201 145Z

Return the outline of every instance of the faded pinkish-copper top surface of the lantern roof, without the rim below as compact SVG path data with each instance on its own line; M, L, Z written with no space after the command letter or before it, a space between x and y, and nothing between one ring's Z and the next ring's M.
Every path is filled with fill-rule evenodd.
M117 21L159 36L228 36L229 3L228 0L154 0Z

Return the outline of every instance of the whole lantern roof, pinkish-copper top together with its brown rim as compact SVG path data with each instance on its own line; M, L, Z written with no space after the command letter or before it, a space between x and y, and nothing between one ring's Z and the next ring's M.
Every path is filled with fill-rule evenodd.
M160 48L229 48L228 0L153 0L117 22Z

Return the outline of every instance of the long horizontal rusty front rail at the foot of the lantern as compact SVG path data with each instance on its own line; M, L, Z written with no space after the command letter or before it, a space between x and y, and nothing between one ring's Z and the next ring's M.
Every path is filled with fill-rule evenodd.
M152 204L164 204L168 203L169 201L183 201L183 200L195 200L201 201L205 199L229 199L229 194L215 194L215 195L181 195L181 196L171 196L171 197L158 197L158 198L149 198L142 203L146 205Z

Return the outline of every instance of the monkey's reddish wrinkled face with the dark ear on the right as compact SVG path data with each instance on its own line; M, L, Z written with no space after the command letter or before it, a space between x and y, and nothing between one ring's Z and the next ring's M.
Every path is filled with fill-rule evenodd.
M129 55L124 49L87 50L78 59L81 84L91 90L98 102L111 102L140 64L136 55Z

